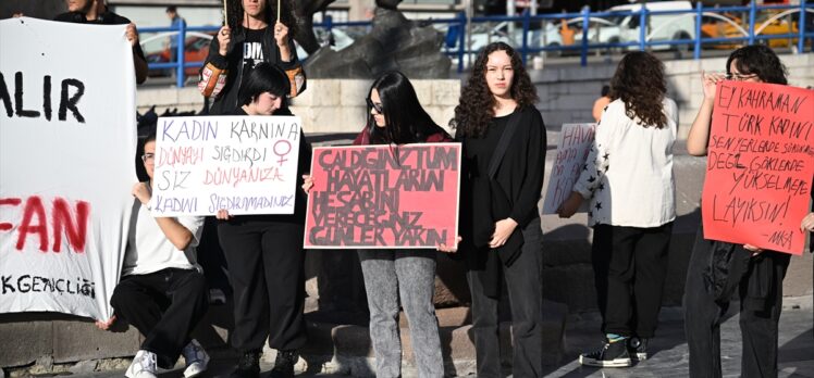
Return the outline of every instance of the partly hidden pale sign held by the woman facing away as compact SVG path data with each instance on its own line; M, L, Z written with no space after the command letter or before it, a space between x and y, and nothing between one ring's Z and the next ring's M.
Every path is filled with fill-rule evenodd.
M543 214L554 214L571 194L574 184L584 168L591 151L596 124L564 124L557 142L557 158L548 176L548 189L543 201ZM583 201L581 212L588 210Z

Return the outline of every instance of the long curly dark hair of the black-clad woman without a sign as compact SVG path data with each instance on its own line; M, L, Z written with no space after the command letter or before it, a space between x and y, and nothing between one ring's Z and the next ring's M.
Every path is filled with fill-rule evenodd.
M480 138L486 133L489 123L494 117L494 106L497 104L486 85L486 62L489 55L495 51L505 51L511 59L511 70L515 76L511 80L511 99L519 108L531 106L538 100L536 88L531 84L529 73L522 65L520 54L504 42L489 43L478 54L467 85L460 92L460 100L455 106L455 117L449 126L457 129L458 135Z

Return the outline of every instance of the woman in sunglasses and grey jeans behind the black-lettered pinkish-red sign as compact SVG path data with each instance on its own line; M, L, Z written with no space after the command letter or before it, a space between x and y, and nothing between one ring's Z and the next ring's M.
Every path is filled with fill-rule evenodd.
M368 122L355 146L406 144L451 141L449 135L421 108L412 84L400 72L373 81L368 91ZM305 176L303 188L313 186ZM402 376L399 303L407 314L419 377L443 377L439 322L435 317L435 251L359 250L370 310L370 339L375 352L377 377Z

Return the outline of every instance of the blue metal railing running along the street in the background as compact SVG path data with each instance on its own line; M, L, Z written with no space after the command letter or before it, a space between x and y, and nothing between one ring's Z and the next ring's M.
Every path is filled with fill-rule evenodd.
M773 34L773 35L757 35L755 33L755 24L757 23L757 14L761 11L795 11L798 14L798 32L788 34ZM531 15L528 11L517 16L480 16L472 17L472 24L479 23L517 23L522 25L522 37L520 38L520 46L518 51L522 56L523 63L527 62L529 54L540 53L544 51L575 51L579 50L580 64L588 64L588 53L591 50L603 50L603 49L639 49L646 50L648 48L659 47L659 46L688 46L693 50L693 59L701 59L701 50L703 43L738 43L745 41L749 45L753 45L758 40L772 40L772 39L797 39L797 51L795 53L803 53L805 49L805 40L814 39L814 28L806 29L807 17L814 15L806 15L806 12L814 13L814 5L807 4L806 0L801 0L799 5L756 5L754 1L748 7L725 7L725 8L705 8L702 3L698 3L694 9L680 10L680 11L650 11L646 8L642 8L639 11L632 12L591 12L588 7L583 8L579 13L557 13L557 14L539 14ZM749 15L749 28L745 29L747 34L740 37L704 37L702 35L702 18L708 15L717 15L723 13L744 13ZM694 37L691 39L666 39L666 40L652 40L648 38L649 30L648 17L652 15L686 15L692 17L695 22L694 25ZM607 18L607 17L624 17L624 16L636 16L639 17L639 36L638 40L628 41L599 41L593 42L589 38L591 20L595 18ZM788 15L789 17L792 14ZM719 17L719 16L718 16ZM532 23L541 22L565 22L581 25L581 38L579 43L566 46L560 45L548 45L548 46L530 46L529 33L531 30ZM458 73L464 71L464 59L465 56L477 53L478 51L468 50L466 48L466 33L467 18L464 13L459 13L453 18L441 18L441 20L428 20L431 24L445 24L448 27L458 27L458 36L455 49L444 47L444 53L457 58L457 70ZM202 32L211 33L217 32L217 26L200 26L200 27L185 27L183 23L180 23L177 27L151 27L143 28L140 33L170 33L174 34L172 38L175 38L175 55L177 60L175 62L148 62L150 70L175 70L176 85L182 87L185 83L185 68L188 67L200 67L203 62L186 62L185 59L185 40L187 33ZM325 17L322 23L314 23L314 28L323 28L328 33L331 33L333 28L340 27L358 27L358 26L370 26L370 22L343 22L335 23L331 16ZM793 22L789 23L789 30L792 30ZM545 29L542 33L546 33ZM596 30L596 37L599 37L599 30Z

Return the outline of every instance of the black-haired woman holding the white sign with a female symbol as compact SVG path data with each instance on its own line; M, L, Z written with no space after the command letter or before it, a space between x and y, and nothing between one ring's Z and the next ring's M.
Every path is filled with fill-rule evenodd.
M260 63L248 75L233 115L272 115L285 110L288 78L279 67ZM287 112L286 112L287 113ZM299 133L298 174L311 161ZM297 192L292 215L238 215L218 212L218 237L234 290L232 346L240 360L232 377L258 377L263 343L278 350L271 377L293 377L296 350L306 343L303 319L305 273L303 227L306 199Z

